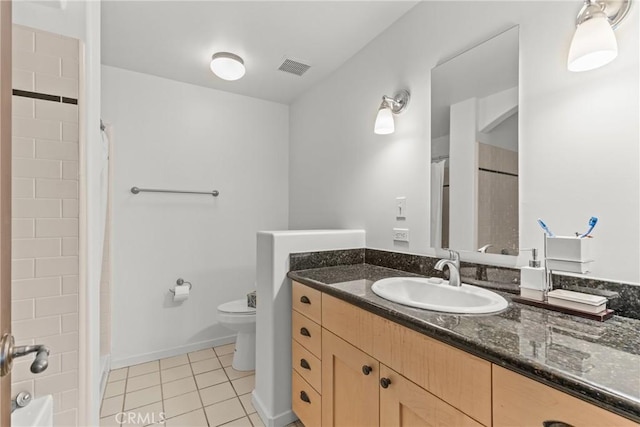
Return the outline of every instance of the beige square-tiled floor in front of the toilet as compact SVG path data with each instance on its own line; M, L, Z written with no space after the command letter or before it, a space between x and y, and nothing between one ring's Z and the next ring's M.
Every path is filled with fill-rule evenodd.
M263 427L251 404L254 372L231 367L233 350L228 344L111 371L100 425Z

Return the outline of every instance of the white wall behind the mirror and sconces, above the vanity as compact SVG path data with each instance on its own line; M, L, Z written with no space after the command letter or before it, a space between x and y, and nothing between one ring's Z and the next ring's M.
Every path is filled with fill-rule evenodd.
M638 283L640 139L638 28L633 7L616 31L619 57L566 69L580 4L423 2L291 106L291 228L364 228L367 246L429 249L430 71L520 25L520 244L542 248L536 218L558 234L600 218L591 276ZM411 90L396 132L374 135L380 97ZM407 196L406 221L394 201ZM406 226L411 242L392 242ZM622 257L622 260L621 260ZM469 258L469 257L468 257ZM524 263L524 257L520 265Z

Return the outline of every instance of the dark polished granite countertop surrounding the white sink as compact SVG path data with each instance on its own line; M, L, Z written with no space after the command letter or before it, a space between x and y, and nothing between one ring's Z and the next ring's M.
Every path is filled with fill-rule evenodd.
M640 320L596 322L511 300L494 315L415 309L380 298L376 280L416 274L370 264L291 271L300 283L640 422Z

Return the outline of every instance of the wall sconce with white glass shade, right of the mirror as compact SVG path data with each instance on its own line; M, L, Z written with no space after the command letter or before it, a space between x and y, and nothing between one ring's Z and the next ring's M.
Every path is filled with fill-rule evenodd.
M569 48L569 71L593 70L618 56L618 43L613 30L630 7L631 0L584 0Z

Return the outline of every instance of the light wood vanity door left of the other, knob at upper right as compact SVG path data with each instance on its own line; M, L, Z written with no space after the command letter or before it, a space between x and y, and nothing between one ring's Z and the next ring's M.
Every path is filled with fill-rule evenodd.
M322 330L322 425L374 427L379 421L378 361Z

